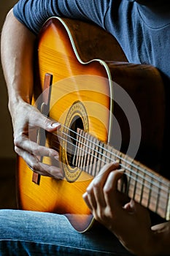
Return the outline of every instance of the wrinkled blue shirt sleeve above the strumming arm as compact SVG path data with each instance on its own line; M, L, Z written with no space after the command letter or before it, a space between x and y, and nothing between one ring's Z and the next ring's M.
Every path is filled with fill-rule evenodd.
M53 16L91 20L104 28L109 0L20 0L13 8L15 18L34 34Z

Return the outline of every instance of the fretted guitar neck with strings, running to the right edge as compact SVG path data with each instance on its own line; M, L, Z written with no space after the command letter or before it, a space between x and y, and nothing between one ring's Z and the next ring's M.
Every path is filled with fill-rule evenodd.
M96 176L103 165L119 160L125 180L118 190L164 219L170 219L169 180L81 129L77 129L77 142L77 167Z

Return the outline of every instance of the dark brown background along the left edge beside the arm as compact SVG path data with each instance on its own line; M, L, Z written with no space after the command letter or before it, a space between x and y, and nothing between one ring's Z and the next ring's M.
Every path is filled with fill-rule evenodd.
M2 0L0 8L0 29L7 12L16 0ZM15 165L16 154L13 147L12 124L8 111L7 88L0 65L0 208L15 208Z

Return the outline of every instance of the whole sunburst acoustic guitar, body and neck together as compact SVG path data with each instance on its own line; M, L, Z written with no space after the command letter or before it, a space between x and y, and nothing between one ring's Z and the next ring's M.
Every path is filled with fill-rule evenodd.
M117 189L169 219L170 182L153 171L161 162L165 113L158 69L129 63L107 31L67 18L47 20L35 62L32 105L61 128L29 135L59 151L64 178L39 176L18 157L18 207L64 214L85 232L94 219L82 195L101 167L118 159L125 175Z

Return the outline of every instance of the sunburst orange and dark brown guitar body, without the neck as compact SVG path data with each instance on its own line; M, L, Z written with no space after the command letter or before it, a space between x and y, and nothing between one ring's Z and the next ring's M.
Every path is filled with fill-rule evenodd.
M69 148L72 138L68 137L67 129L77 132L78 127L104 143L114 144L113 113L119 116L117 119L120 119L123 127L127 122L114 104L114 80L128 91L139 111L142 124L139 152L145 152L148 156L154 151L159 155L163 140L161 124L164 121L161 75L153 67L129 64L123 50L110 34L93 24L77 20L48 20L39 34L37 59L32 104L36 103L44 90L45 75L53 76L47 104L49 117L62 124L62 142L60 137L48 134L45 145L58 149L65 178L58 181L41 176L39 184L36 184L32 181L32 170L18 157L18 206L30 211L65 214L76 230L84 232L93 224L93 216L82 195L94 175L80 170L80 165L72 164L74 154L69 152L72 151ZM152 100L151 91L155 92ZM129 134L125 129L124 145L128 145L128 140ZM73 140L72 143L75 144ZM126 150L126 146L123 146L123 150ZM43 162L56 164L47 157L43 158ZM148 157L146 162L152 165L153 161L150 162Z

